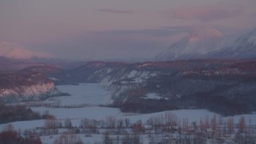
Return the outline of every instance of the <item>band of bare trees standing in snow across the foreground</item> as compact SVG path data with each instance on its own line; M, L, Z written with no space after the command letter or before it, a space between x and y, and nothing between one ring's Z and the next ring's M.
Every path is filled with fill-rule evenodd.
M79 126L74 126L70 118L58 119L47 116L45 125L25 130L24 138L38 138L59 134L54 143L86 143L84 137L102 138L108 144L149 143L205 144L205 143L249 143L256 141L256 126L252 119L241 117L238 122L234 118L222 116L206 116L199 122L190 122L189 118L178 118L177 115L166 113L155 115L142 122L130 121L129 118L119 119L114 116L102 120L84 118ZM1 141L0 141L1 142ZM94 142L97 143L97 142ZM1 144L1 143L0 143Z

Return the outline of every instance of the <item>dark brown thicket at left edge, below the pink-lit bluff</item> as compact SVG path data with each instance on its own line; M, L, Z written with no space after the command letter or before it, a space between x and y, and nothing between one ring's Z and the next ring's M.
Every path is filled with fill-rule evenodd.
M0 124L43 118L26 106L6 106L0 103Z

